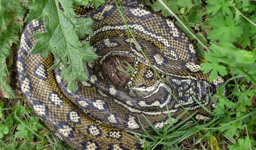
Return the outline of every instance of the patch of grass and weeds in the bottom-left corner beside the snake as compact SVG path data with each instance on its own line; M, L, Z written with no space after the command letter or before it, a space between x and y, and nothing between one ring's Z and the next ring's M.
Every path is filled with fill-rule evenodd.
M30 108L26 109L19 105L19 101L13 101L17 103L16 107L5 104L7 106L4 109L4 102L0 102L0 149L72 149L58 141L45 125L42 125L38 116L31 116ZM23 100L20 103L22 102Z

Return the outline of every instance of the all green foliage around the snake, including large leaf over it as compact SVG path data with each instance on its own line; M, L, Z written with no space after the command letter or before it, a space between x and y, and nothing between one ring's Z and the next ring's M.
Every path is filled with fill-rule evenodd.
M103 0L74 1L76 4L92 2L95 7L103 3ZM30 13L26 21L44 20L47 31L34 35L38 39L34 53L41 53L46 57L52 52L57 58L52 68L59 67L60 64L71 66L70 69L63 67L62 72L62 77L69 82L68 88L71 91L76 89L77 80L86 79L82 64L93 61L96 55L91 52L88 43L79 42L78 36L92 33L89 27L92 20L77 18L73 13L72 2L64 0L59 2L65 12L58 9L57 1L0 1L0 86L10 98L14 98L9 86L10 81L7 81L11 79L10 60L13 57L12 49L17 49L18 39L22 33L27 4ZM165 2L196 36L197 39L190 35L181 23L176 22L196 46L198 56L204 58L204 62L210 62L202 64L204 72L211 72L210 81L216 79L217 75L224 76L227 80L225 83L227 97L222 96L224 87L219 87L219 94L213 95L219 99L213 113L214 119L204 125L192 124L180 127L175 126L174 121L170 120L164 129L156 129L152 126L157 136L152 137L145 131L144 136L153 139L152 145L145 143L147 149L157 149L157 145L165 145L165 149L198 149L198 147L213 149L205 146L212 146L211 143L215 142L212 136L219 142L217 146L220 149L227 145L231 150L255 149L256 111L255 107L252 107L252 100L256 95L256 2L249 0L167 0ZM151 8L165 16L171 15L159 0L156 0ZM209 53L205 53L205 47L209 49ZM15 100L15 106L10 103L13 101L4 102L1 99L0 102L0 149L72 149L61 144L48 132L38 117L31 116L33 111L21 105L23 100L21 102ZM209 137L211 142L208 143ZM184 139L187 139L188 143L180 144Z

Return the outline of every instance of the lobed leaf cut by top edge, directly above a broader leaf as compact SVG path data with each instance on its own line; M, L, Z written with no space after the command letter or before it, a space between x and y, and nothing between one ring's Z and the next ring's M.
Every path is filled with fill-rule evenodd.
M229 0L207 0L206 3L208 3L205 7L208 14L212 13L212 15L215 15L221 9L223 15L232 15L229 8L231 7Z

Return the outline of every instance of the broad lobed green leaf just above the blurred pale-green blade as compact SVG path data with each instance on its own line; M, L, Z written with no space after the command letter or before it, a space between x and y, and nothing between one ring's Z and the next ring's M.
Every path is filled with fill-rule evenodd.
M239 26L240 20L235 21L232 15L223 17L214 17L209 20L209 25L213 30L207 33L207 38L211 41L219 40L219 43L235 42L236 38L243 33L243 28Z

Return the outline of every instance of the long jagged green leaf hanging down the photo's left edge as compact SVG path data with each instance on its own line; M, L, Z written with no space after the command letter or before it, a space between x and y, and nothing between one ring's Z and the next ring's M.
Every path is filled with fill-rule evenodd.
M10 79L6 58L12 56L12 46L16 45L22 32L22 22L19 20L25 10L25 5L19 1L0 1L0 87L10 99L14 98L14 92L6 80Z

